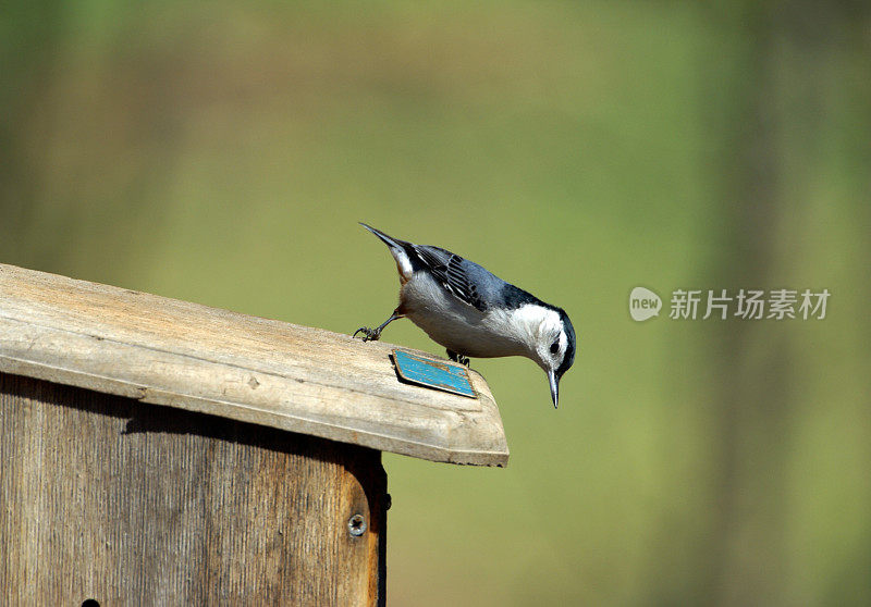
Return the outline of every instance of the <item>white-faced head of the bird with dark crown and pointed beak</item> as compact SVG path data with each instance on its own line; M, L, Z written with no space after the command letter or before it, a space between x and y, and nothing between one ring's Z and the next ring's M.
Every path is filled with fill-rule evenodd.
M530 358L548 374L554 408L560 404L560 379L575 362L575 327L562 308L532 306L537 320ZM532 312L532 310L530 310Z

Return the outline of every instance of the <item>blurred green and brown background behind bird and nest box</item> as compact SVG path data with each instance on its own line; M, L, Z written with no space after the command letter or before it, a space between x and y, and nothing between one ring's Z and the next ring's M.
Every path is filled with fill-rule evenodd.
M871 604L866 2L59 2L0 15L0 261L351 332L387 249L564 307L504 470L384 456L393 605ZM827 288L822 321L628 314ZM384 340L443 354L408 321Z

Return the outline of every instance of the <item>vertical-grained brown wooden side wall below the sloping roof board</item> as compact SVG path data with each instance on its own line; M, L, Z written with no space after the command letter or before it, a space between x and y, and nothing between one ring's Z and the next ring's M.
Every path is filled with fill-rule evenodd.
M379 451L0 373L0 454L2 605L383 603Z

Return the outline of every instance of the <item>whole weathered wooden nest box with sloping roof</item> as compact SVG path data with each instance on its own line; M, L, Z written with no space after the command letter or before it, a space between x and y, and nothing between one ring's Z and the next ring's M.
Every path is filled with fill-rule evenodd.
M508 458L392 352L0 264L0 604L383 604L381 451Z

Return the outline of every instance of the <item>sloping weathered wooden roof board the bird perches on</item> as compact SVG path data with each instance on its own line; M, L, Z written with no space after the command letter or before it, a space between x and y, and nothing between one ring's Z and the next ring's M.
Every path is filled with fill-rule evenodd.
M403 384L394 347L0 264L0 371L434 461L505 466L483 377L469 373L475 399Z

